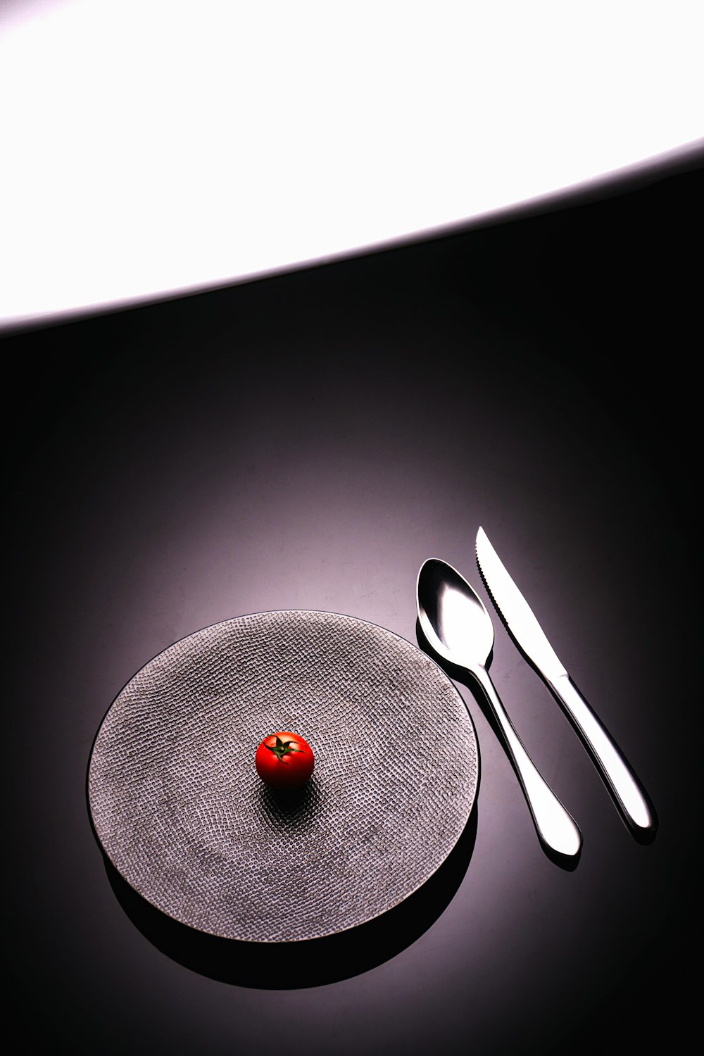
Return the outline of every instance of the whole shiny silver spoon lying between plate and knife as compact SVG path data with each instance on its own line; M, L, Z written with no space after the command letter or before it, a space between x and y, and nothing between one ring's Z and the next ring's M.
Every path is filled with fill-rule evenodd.
M524 748L487 670L494 647L494 624L480 598L452 565L432 558L418 573L417 603L420 626L431 647L468 672L486 696L540 841L557 854L578 854L582 832Z

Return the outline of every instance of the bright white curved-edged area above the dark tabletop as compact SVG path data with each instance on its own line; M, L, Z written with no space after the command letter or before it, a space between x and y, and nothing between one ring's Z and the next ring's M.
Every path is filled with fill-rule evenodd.
M430 232L704 132L699 0L0 2L0 326Z

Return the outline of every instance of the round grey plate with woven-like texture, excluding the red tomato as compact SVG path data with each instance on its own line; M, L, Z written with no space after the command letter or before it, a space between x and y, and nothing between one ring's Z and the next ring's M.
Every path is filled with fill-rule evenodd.
M254 770L293 730L316 754L298 793ZM478 777L472 720L420 649L331 612L206 627L126 685L98 731L89 803L145 899L230 939L320 938L385 912L457 843Z

